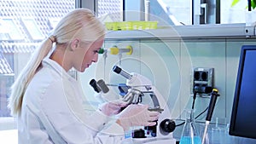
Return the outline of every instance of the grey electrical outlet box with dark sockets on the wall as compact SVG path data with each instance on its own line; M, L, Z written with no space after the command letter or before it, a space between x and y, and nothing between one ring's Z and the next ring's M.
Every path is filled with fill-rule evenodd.
M191 95L209 96L213 89L213 68L196 67L192 74Z

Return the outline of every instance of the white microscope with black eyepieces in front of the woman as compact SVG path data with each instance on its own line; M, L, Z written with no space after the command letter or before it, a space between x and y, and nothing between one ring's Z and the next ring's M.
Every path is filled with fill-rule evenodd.
M119 66L113 66L113 72L126 78L125 84L105 84L100 79L92 79L90 85L98 94L102 101L111 101L108 93L108 86L115 86L119 89L119 98L128 104L149 104L148 111L160 112L160 118L154 126L136 127L131 131L131 136L124 140L124 143L134 144L175 144L176 140L172 136L175 130L175 122L170 118L171 111L166 105L166 100L159 91L155 89L151 81L136 72L125 72ZM125 107L124 107L125 108Z

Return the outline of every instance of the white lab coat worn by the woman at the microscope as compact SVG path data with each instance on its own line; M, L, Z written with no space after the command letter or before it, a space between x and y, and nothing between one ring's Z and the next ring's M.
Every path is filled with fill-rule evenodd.
M19 144L121 143L121 127L113 123L111 135L100 132L110 119L99 111L84 112L82 95L79 83L54 60L45 58L23 98Z

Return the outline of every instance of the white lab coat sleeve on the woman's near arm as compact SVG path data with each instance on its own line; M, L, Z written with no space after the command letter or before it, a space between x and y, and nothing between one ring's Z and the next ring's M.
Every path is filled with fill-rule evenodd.
M67 104L67 95L74 91L67 90L70 92L67 94L63 90L66 88L60 82L49 84L49 89L41 99L42 111L61 139L70 144L121 143L123 135L104 135L99 131L108 123L108 118L101 112L96 111L88 117L87 121L81 121ZM117 124L113 125L118 127Z

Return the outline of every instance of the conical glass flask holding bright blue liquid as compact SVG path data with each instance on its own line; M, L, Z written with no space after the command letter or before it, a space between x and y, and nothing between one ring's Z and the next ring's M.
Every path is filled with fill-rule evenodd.
M183 126L183 131L180 144L201 144L200 132L195 129L194 109L186 110L186 121Z

